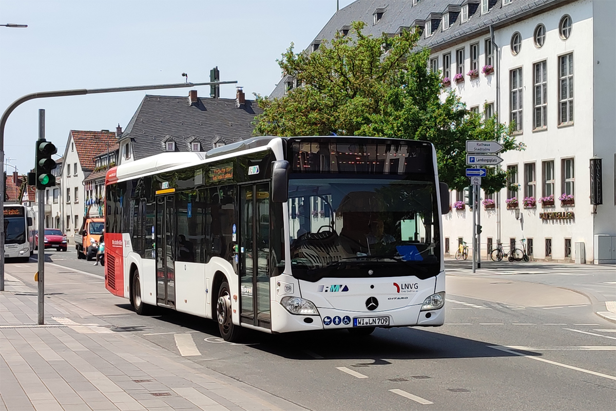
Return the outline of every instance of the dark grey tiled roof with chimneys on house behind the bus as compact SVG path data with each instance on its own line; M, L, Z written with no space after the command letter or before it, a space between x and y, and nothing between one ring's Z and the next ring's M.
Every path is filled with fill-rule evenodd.
M163 142L176 142L176 151L189 151L190 142L201 151L253 136L253 121L262 113L253 100L237 107L235 99L199 99L189 105L188 96L145 96L120 139L132 139L135 160L162 153Z

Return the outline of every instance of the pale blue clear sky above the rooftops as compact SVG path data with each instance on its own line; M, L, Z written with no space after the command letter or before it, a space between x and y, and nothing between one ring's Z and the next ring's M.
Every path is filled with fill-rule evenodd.
M340 8L352 0L340 0ZM33 92L237 80L246 98L280 80L276 59L293 42L306 48L336 12L336 0L0 0L0 112ZM221 85L235 98L235 84ZM209 96L209 86L197 87ZM62 156L68 132L124 129L145 94L188 96L187 89L30 100L4 129L4 169L34 167L38 110L46 138Z

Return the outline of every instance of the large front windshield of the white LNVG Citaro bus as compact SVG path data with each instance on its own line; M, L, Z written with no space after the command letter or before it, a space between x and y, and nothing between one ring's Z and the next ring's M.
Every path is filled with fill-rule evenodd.
M291 267L298 278L427 278L439 272L433 181L291 179L289 208ZM372 265L378 273L368 269Z

